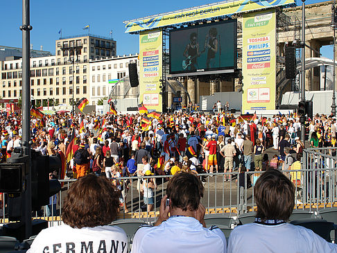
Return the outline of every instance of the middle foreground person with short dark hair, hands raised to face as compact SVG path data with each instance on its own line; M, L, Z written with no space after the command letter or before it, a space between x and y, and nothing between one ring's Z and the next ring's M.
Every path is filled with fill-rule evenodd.
M216 226L206 228L206 209L200 203L203 191L196 175L182 172L171 177L155 227L137 230L131 252L226 252L223 232Z

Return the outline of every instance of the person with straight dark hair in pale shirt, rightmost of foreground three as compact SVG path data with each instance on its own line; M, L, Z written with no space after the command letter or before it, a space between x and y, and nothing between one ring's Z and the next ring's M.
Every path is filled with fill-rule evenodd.
M257 214L254 223L236 227L228 252L337 252L310 229L287 223L295 206L295 186L280 171L263 173L254 186ZM254 236L252 236L254 235Z

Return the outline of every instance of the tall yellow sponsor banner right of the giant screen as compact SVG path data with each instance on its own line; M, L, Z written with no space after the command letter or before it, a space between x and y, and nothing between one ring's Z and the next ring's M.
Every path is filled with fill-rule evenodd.
M243 15L242 37L242 111L275 110L275 10Z

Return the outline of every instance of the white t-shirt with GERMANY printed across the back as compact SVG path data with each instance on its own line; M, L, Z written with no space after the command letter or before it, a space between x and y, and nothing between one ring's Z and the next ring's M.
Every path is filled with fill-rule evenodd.
M72 249L72 250L69 250ZM43 229L27 253L40 252L124 252L128 238L116 226L72 228L60 225Z

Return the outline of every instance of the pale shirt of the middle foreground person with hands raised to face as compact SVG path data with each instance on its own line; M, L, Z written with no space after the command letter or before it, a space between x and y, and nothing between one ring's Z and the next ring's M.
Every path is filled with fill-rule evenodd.
M217 227L207 229L195 218L178 216L157 227L140 227L131 253L225 253L226 246L225 235Z

